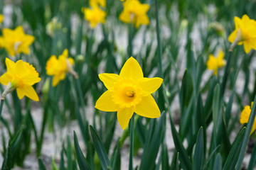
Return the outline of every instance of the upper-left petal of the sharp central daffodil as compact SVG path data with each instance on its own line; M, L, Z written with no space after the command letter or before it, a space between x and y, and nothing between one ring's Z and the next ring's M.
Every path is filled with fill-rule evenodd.
M115 82L117 82L120 79L119 75L109 73L99 74L99 78L104 83L107 89L112 88Z

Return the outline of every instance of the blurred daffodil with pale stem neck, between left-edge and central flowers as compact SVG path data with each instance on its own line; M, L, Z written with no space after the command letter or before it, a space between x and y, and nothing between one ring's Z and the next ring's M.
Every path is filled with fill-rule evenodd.
M68 50L65 49L58 59L52 55L46 62L46 74L53 76L52 85L57 86L60 80L65 79L65 74L70 73L77 79L78 74L73 69L74 60L68 57Z

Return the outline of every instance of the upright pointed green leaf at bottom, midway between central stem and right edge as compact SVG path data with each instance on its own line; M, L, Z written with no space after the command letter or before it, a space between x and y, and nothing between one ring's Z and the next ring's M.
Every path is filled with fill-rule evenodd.
M196 139L196 149L193 156L192 169L197 170L202 168L203 164L203 128L198 131L198 137Z

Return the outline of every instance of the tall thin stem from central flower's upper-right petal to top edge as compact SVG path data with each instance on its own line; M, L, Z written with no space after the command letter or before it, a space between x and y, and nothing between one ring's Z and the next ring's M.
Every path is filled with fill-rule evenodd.
M163 77L162 67L162 52L161 52L161 38L160 38L160 25L159 25L159 11L158 11L158 0L156 0L156 38L157 38L157 52L159 57L159 76Z

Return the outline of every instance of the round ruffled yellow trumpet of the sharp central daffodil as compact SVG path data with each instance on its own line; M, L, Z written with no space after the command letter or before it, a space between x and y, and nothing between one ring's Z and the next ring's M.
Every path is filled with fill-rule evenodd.
M142 89L134 79L120 79L110 91L112 92L112 101L119 108L136 106L142 100Z

